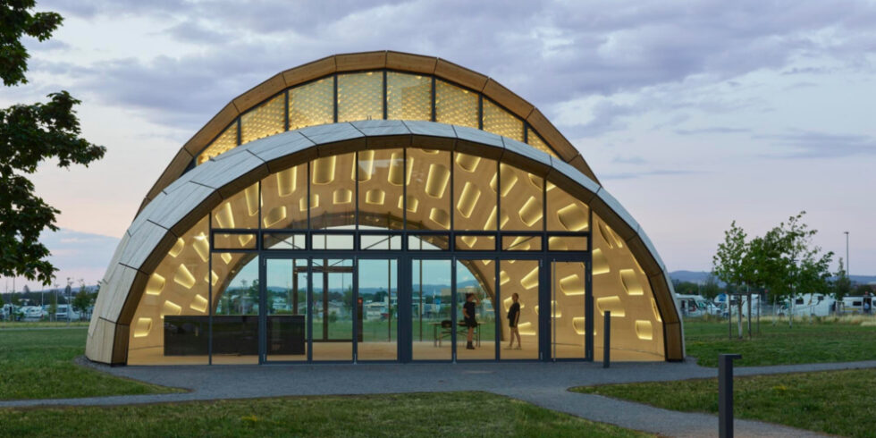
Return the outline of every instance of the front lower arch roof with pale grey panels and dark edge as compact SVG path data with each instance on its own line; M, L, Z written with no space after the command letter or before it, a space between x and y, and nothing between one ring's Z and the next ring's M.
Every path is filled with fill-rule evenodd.
M392 120L334 123L258 139L211 158L164 187L131 223L116 249L98 297L89 336L95 335L98 318L109 324L130 324L139 302L139 296L134 295L143 290L139 286L146 284L148 274L176 240L224 198L270 173L318 156L388 147L457 150L501 158L527 172L549 178L560 189L587 203L626 241L648 276L664 324L666 358L684 357L680 317L671 296L672 286L665 265L642 227L607 190L571 164L517 140L437 122ZM118 333L116 327L116 337ZM95 357L91 352L88 356Z

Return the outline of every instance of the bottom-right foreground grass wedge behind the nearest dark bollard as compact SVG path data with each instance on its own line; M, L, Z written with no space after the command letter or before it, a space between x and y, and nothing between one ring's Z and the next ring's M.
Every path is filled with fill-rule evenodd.
M827 434L876 434L876 369L737 377L734 414ZM718 380L628 383L575 392L635 400L665 409L718 413Z

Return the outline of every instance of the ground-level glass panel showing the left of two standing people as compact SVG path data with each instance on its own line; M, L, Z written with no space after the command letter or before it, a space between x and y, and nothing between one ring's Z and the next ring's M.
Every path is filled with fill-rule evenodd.
M494 260L456 264L456 358L496 358L496 265Z

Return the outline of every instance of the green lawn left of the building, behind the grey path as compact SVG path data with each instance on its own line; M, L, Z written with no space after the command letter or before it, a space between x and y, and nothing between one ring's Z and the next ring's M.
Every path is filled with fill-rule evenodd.
M73 364L72 359L85 352L87 334L87 326L0 329L0 400L177 391L105 375Z

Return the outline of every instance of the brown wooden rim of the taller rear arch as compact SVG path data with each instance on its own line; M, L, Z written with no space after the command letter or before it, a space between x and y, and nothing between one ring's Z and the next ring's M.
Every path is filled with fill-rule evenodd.
M434 56L413 55L393 51L362 52L354 54L332 55L323 59L306 63L285 72L275 74L268 80L250 88L225 105L219 113L210 119L189 141L186 142L171 164L152 186L140 206L142 210L152 199L156 198L166 187L176 181L190 168L190 163L198 154L215 139L235 118L246 113L266 99L273 97L285 88L294 87L310 80L336 73L358 72L376 69L389 69L397 72L430 74L443 80L449 80L463 87L473 89L489 97L497 104L508 109L526 121L544 141L557 152L567 164L576 168L593 181L598 181L590 166L585 162L576 147L563 137L560 131L547 120L534 105L503 87L499 82L481 73L468 70L455 63Z

